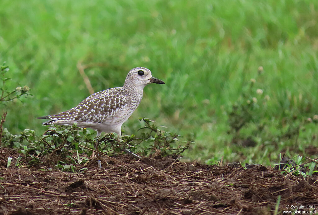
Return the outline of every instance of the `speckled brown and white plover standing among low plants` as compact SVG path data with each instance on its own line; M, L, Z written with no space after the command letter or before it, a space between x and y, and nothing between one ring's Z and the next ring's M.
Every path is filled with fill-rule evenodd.
M136 67L128 72L122 87L96 92L68 111L38 117L38 119L49 119L42 125L77 123L78 127L96 130L96 137L99 137L102 132L115 132L121 136L122 124L140 104L143 88L151 83L165 84L162 80L152 77L149 69ZM135 158L140 158L128 149L123 151ZM98 166L101 168L100 161L98 161Z

